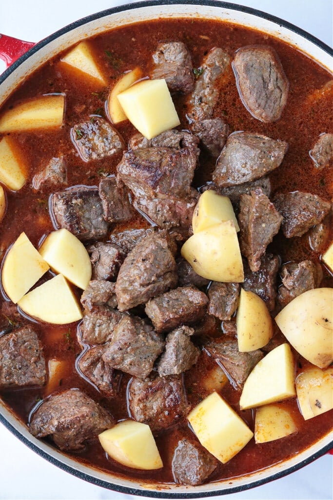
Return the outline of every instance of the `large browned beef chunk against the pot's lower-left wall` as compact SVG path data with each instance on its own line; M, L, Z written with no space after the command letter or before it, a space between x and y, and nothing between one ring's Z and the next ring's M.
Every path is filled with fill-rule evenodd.
M114 425L112 416L91 397L69 389L44 401L32 416L29 430L35 437L52 436L63 450L82 449L84 441Z

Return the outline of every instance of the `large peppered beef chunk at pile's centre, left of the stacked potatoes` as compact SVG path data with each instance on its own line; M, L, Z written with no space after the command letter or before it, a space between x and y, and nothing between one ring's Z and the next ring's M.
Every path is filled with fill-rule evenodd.
M116 295L121 311L177 286L177 265L166 237L152 233L134 246L120 267Z

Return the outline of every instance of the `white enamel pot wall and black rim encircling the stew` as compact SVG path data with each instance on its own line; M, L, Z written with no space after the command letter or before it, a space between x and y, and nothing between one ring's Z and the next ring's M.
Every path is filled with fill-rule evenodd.
M146 1L115 7L76 21L37 43L22 55L0 76L0 105L24 78L40 64L77 41L102 33L116 26L142 20L167 17L203 17L222 19L253 27L273 34L296 46L326 68L332 68L332 50L320 40L300 28L255 9L222 1ZM54 447L33 437L27 427L0 401L0 420L27 446L60 468L94 484L128 494L156 497L196 498L233 493L258 486L289 474L319 456L333 446L333 433L327 434L315 444L282 463L252 474L221 480L201 486L152 484L124 479L105 473L64 455Z

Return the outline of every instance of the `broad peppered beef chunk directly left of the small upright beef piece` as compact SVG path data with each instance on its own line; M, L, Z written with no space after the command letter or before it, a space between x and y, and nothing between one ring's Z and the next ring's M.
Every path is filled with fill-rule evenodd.
M146 378L164 348L162 335L135 316L124 316L115 326L103 360L126 373Z

